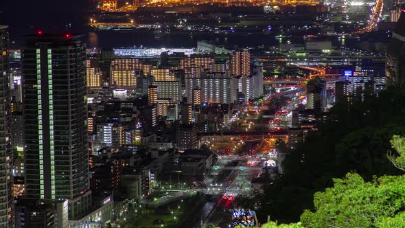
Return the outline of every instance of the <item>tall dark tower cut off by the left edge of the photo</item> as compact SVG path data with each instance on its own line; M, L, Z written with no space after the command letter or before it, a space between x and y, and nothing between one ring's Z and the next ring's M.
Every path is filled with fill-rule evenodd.
M0 25L0 227L14 227L14 198L12 196L10 49L8 26Z

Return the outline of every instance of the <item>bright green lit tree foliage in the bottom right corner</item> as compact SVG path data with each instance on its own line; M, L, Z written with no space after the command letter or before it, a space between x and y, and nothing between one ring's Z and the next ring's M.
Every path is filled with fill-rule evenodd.
M356 173L334 179L334 187L314 195L314 212L301 216L304 227L381 227L403 218L405 176L382 176L366 182ZM400 216L400 217L397 217Z

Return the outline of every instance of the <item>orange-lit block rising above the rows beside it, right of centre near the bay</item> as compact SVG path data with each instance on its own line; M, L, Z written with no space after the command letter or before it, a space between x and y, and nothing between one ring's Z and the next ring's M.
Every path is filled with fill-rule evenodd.
M233 52L230 63L233 76L251 75L251 54L247 49Z

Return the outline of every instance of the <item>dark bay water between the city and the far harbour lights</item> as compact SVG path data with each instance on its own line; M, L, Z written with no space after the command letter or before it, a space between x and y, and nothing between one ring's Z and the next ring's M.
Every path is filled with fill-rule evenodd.
M214 34L169 34L161 37L152 32L92 31L86 26L92 10L92 0L0 0L0 24L10 25L12 48L18 49L24 43L24 35L35 34L38 30L44 33L67 32L84 34L83 41L89 47L196 47L198 40L210 40L219 44L237 47L256 47L277 45L278 41L271 36L228 37ZM292 43L303 43L302 38L289 38ZM287 40L286 40L287 41ZM284 42L286 42L284 41ZM348 41L347 43L350 43Z

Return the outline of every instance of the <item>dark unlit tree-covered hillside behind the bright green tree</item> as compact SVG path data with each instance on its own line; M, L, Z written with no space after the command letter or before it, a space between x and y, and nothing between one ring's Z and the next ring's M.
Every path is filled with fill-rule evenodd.
M265 189L259 221L297 222L314 208L314 193L333 185L332 178L357 172L373 176L402 174L386 157L393 135L405 135L405 91L388 89L352 104L336 104L319 130L286 155L284 173Z

